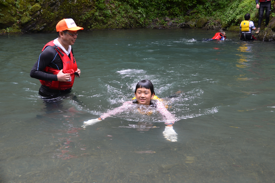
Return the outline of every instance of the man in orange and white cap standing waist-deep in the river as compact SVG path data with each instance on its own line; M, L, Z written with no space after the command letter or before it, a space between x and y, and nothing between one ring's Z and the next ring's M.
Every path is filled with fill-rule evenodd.
M57 36L42 49L39 59L32 67L30 76L42 84L39 95L53 97L71 91L75 76L80 76L71 45L75 44L77 27L74 20L63 19L56 25Z

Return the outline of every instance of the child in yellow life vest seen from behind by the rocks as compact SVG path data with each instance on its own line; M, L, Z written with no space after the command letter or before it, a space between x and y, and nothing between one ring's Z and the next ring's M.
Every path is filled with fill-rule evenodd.
M254 26L254 23L249 20L250 20L250 14L247 13L244 15L244 21L240 23L240 33L241 33L240 40L244 40L244 41L257 40L252 35L252 30L256 30L256 27Z

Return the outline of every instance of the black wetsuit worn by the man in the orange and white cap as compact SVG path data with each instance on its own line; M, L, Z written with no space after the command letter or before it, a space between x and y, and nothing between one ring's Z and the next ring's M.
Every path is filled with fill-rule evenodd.
M70 54L68 55L70 58ZM57 81L57 75L52 73L46 73L43 71L46 66L50 66L54 69L61 70L63 69L63 62L58 55L55 48L52 46L48 46L43 50L43 52L40 54L38 60L36 61L35 65L31 69L30 76L44 81ZM52 97L59 94L66 94L71 91L71 88L68 88L67 90L56 90L51 89L47 86L41 85L39 89L39 95L42 97Z

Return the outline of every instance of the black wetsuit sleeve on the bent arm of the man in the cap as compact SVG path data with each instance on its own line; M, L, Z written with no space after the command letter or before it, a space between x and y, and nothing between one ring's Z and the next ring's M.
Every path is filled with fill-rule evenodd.
M52 46L48 46L40 54L38 60L31 69L30 76L44 81L57 81L57 75L45 73L43 71L46 66L50 66L58 70L63 69L62 60Z

